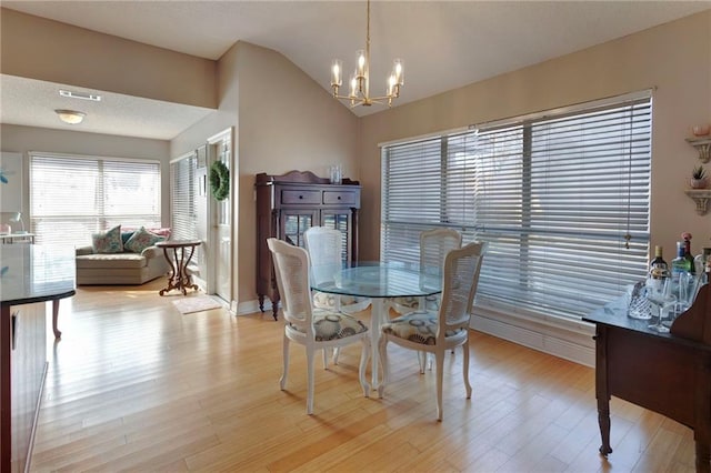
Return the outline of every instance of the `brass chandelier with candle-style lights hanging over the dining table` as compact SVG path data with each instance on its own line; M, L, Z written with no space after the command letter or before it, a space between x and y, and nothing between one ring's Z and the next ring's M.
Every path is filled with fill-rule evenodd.
M365 29L365 50L359 50L357 53L358 62L356 71L351 77L350 93L340 95L339 88L343 84L343 61L336 59L331 66L331 88L333 89L333 98L349 100L351 108L358 105L370 107L373 103L388 103L392 105L392 99L400 97L400 88L404 84L402 74L402 61L395 59L392 64L392 72L388 78L385 94L381 97L370 97L370 0L367 6L367 29Z

